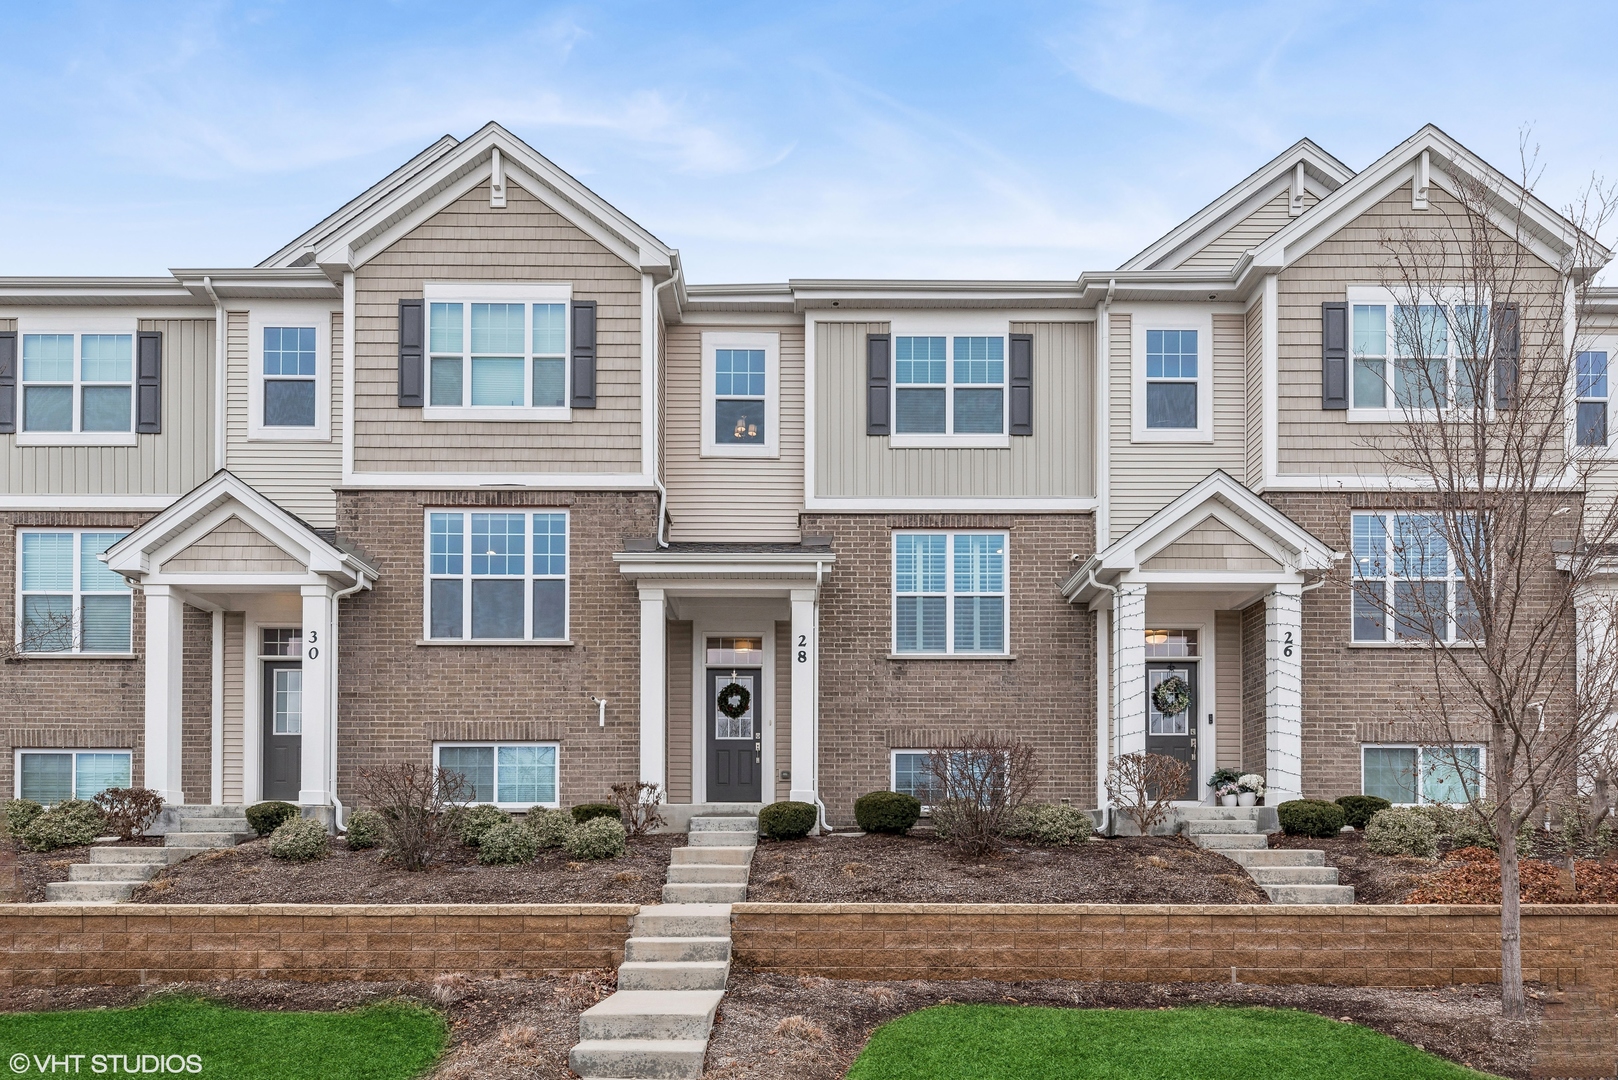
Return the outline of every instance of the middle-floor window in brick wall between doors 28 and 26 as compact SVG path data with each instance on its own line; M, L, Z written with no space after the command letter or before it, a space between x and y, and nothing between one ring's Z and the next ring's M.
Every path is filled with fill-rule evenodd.
M1006 534L893 536L893 651L1006 651Z

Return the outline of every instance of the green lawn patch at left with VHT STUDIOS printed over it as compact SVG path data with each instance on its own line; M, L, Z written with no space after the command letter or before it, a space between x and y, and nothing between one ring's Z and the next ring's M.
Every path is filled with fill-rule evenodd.
M0 1075L120 1077L139 1074L144 1065L146 1075L225 1080L409 1080L438 1059L445 1036L443 1018L416 1006L249 1012L159 997L136 1009L3 1014ZM84 1057L65 1061L68 1054ZM165 1061L142 1062L141 1054L162 1054ZM196 1057L181 1061L189 1054ZM102 1056L99 1062L95 1056ZM49 1057L57 1059L55 1070Z

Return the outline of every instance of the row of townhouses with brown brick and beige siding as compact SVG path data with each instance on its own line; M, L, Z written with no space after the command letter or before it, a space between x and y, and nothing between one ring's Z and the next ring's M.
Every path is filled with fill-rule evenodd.
M993 732L1084 808L1139 750L1188 801L1445 798L1354 589L1448 589L1451 638L1461 601L1387 557L1362 376L1380 238L1484 172L1302 141L1116 270L694 285L489 125L254 267L0 279L0 784L341 814L419 761L845 824Z

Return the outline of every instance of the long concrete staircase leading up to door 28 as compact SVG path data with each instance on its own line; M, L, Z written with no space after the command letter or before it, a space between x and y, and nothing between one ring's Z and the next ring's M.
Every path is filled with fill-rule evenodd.
M691 819L663 904L634 916L618 993L579 1015L568 1065L586 1080L694 1080L730 976L730 905L748 897L757 818Z

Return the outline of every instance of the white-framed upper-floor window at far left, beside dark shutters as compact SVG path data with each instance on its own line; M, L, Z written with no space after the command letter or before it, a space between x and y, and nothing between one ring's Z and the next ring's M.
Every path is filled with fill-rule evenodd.
M24 334L24 432L134 432L134 334Z

